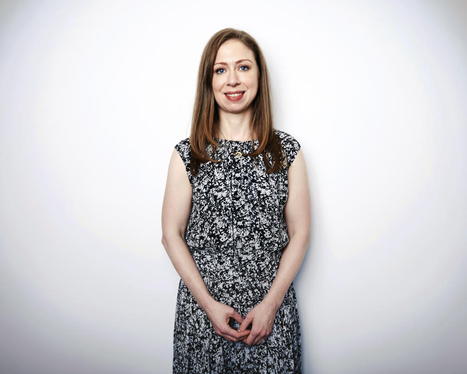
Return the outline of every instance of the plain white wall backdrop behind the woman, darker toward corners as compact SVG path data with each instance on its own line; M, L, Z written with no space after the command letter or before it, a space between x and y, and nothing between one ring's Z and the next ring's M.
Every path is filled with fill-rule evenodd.
M247 31L305 155L304 374L466 373L466 1L2 1L0 372L171 373L161 243L201 52Z

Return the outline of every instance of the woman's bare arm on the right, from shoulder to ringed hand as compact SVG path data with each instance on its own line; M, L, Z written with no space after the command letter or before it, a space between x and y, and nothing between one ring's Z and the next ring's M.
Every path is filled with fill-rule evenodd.
M244 339L248 345L257 344L268 337L276 312L282 304L287 290L302 265L310 242L311 206L305 158L300 149L287 170L288 196L284 207L289 242L282 254L279 269L263 301L256 305L243 320L239 331L245 330L250 322L250 335Z

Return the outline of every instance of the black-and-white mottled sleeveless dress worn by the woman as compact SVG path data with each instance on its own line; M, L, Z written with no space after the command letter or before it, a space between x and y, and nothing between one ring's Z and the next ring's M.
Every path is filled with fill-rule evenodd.
M291 165L300 144L275 129ZM266 174L262 156L251 141L213 137L219 148L206 151L214 160L190 173L190 138L175 149L183 160L193 200L185 241L214 299L232 306L245 318L269 291L288 243L284 206L287 168ZM255 148L258 139L254 139ZM240 323L233 318L235 330ZM293 282L277 310L272 332L264 343L249 346L216 334L206 313L180 279L174 327L173 374L302 373L301 332Z

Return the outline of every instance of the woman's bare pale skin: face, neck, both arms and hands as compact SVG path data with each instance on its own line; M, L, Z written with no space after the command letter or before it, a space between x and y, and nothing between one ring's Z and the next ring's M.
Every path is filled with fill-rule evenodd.
M240 59L250 61L237 63ZM213 92L219 106L221 131L216 136L230 140L249 140L251 102L258 90L259 73L253 52L238 40L228 40L219 47L215 61L225 62L215 63L213 71ZM232 102L225 97L225 92L237 90L245 91L240 101ZM243 318L233 307L212 297L184 240L193 189L180 155L176 150L172 152L162 204L162 244L216 333L227 340L243 340L248 345L257 345L261 344L259 339L268 338L277 310L305 257L310 240L311 209L305 158L301 149L288 169L287 178L288 197L284 216L289 243L284 249L268 294ZM228 324L231 317L241 323L237 331ZM248 330L250 323L252 327Z

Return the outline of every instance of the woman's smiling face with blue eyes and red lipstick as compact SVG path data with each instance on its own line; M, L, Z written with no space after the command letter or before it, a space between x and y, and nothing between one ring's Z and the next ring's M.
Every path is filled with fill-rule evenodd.
M258 92L258 75L251 49L236 39L224 42L217 51L213 72L214 98L219 111L241 113L247 110Z

